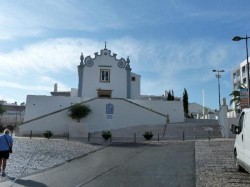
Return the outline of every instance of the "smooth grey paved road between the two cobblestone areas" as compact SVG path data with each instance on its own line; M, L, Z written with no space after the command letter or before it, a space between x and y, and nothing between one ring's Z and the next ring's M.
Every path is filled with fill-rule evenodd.
M194 142L114 144L13 186L195 186ZM10 181L0 186L11 186Z

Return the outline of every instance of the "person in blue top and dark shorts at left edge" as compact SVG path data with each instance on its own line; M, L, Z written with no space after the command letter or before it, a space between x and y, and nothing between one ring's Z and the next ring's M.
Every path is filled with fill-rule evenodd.
M5 168L13 145L13 139L9 134L10 130L5 129L3 134L0 135L0 173L2 171L3 177L6 175Z

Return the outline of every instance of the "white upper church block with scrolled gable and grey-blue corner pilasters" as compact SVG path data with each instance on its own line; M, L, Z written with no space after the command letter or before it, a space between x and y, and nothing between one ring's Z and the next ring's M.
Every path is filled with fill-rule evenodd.
M94 58L81 55L78 97L140 98L140 76L131 72L129 57L125 60L116 56L106 46Z

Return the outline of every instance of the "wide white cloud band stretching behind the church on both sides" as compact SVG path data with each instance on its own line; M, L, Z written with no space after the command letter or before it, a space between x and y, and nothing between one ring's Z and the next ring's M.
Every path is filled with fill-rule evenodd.
M103 48L104 42L97 40L61 38L1 53L0 87L26 90L27 94L49 94L58 83L59 90L69 90L77 82L65 83L71 78L62 74L71 72L77 77L81 52L85 57L94 57ZM176 96L181 96L184 87L214 79L211 70L228 67L235 58L233 48L199 40L183 44L126 37L108 40L107 48L118 58L130 56L132 71L142 75L142 94L154 95L173 89Z

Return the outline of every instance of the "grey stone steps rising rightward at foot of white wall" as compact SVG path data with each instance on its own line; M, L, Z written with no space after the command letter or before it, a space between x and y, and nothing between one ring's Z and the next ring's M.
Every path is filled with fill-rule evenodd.
M113 140L133 141L143 140L145 131L151 131L154 134L153 140L195 140L195 139L214 139L222 138L220 127L217 120L212 121L192 121L184 123L174 123L163 125L143 125L132 126L120 129L110 129ZM165 132L165 133L164 133ZM101 137L102 132L92 132L91 137Z

